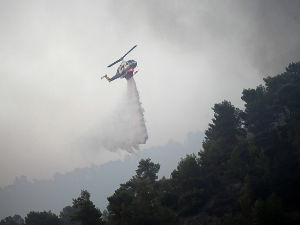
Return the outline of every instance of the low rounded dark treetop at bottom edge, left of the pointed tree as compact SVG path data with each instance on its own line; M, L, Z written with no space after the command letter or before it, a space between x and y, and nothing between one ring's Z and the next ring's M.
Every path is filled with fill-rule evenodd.
M25 225L60 225L60 221L58 216L51 211L32 211L25 217Z

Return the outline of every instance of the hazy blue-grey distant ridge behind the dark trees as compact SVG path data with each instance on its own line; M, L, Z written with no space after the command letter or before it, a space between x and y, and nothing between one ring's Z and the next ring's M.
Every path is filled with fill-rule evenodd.
M65 174L56 173L51 180L28 181L26 176L17 177L12 185L0 188L0 219L14 214L24 217L31 210L59 214L72 198L86 189L97 207L104 210L107 197L114 193L120 183L133 175L142 158L151 158L163 165L159 177L169 177L180 158L197 153L204 138L203 132L190 132L184 144L170 140L164 146L144 149L139 155L126 155L124 160L110 161L102 165L77 168Z

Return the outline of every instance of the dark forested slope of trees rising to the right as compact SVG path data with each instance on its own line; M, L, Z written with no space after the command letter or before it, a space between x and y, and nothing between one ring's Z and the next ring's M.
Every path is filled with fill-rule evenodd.
M169 178L141 159L102 212L78 190L60 215L31 211L0 225L300 224L300 62L263 80L243 90L244 110L227 100L213 106L198 155Z

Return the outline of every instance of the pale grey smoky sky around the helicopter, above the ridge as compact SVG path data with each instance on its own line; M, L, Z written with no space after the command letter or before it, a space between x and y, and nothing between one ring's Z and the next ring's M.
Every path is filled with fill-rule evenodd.
M298 0L0 0L0 186L122 158L76 143L116 113L138 62L148 142L205 130L211 107L300 60ZM116 125L118 126L118 125ZM120 125L121 126L121 125ZM102 131L103 131L102 130ZM200 146L199 146L200 147Z

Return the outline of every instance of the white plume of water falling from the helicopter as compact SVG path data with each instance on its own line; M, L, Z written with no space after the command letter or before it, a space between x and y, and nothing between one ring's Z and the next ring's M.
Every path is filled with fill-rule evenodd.
M109 151L126 150L133 153L148 139L144 109L140 102L134 78L127 81L124 101L109 115L105 122L87 133L80 140L81 149Z

